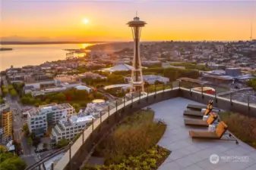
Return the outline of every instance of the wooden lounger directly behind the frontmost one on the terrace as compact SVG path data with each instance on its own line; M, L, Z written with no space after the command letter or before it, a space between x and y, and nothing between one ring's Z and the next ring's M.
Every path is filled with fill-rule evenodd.
M216 113L210 113L210 117L207 120L202 119L184 119L185 125L195 125L195 126L203 126L208 127L216 121L218 116Z

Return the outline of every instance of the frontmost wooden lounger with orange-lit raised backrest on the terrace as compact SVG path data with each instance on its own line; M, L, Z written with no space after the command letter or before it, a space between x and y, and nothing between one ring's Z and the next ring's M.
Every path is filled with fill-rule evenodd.
M225 134L226 130L228 129L228 126L225 124L225 122L219 122L219 124L216 127L215 131L189 131L189 136L194 139L209 139L209 140L224 140L224 141L235 141L235 144L239 144L239 141L235 137L232 136L232 134ZM222 138L223 135L226 138Z

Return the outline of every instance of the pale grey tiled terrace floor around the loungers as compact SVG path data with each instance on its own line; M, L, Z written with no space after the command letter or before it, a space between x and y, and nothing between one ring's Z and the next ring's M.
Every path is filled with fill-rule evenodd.
M194 101L177 97L170 100L153 104L150 107L155 111L155 117L164 119L167 129L159 144L172 151L170 156L163 162L159 170L255 170L256 150L239 141L204 141L191 140L188 131L197 128L188 128L184 125L183 110L187 104L198 104ZM186 117L186 119L189 119ZM200 128L207 131L207 128ZM248 162L224 162L216 164L210 162L210 156L248 156Z

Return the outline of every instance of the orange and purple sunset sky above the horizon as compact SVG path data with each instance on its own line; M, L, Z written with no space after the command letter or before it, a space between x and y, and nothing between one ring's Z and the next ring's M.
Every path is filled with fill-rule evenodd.
M256 39L256 1L0 1L2 41L131 40L125 23L136 10L147 22L145 41L248 40L251 23Z

